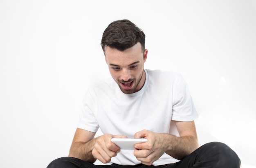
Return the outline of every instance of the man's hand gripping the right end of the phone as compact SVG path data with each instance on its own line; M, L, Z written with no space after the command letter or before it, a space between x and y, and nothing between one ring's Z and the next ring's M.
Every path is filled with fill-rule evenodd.
M142 130L135 133L135 138L146 138L148 142L135 144L133 154L141 164L152 165L167 150L164 144L164 134L157 134L152 131Z

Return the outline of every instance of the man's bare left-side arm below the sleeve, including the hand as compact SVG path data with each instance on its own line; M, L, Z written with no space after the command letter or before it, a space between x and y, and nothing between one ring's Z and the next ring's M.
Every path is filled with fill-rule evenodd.
M75 157L94 163L96 159L102 163L108 163L111 157L115 157L120 148L111 142L112 138L124 138L126 136L104 134L94 138L95 132L80 128L76 129L69 157Z

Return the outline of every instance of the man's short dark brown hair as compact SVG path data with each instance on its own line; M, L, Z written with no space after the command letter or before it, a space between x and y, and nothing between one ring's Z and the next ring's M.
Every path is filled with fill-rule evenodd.
M141 43L141 50L145 49L145 34L139 27L130 20L117 20L108 25L102 35L101 47L105 52L105 47L124 51L137 43Z

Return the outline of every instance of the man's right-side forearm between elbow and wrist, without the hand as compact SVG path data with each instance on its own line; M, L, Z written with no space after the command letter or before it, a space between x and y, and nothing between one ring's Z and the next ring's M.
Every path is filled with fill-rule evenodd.
M199 147L197 137L183 136L176 137L171 134L162 134L167 146L166 153L176 159L183 159Z

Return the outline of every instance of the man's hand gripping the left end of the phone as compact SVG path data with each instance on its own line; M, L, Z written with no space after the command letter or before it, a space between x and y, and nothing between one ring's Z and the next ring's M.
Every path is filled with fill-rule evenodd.
M92 156L103 164L109 163L112 157L117 156L120 148L111 142L112 138L127 138L122 135L104 134L95 139Z

